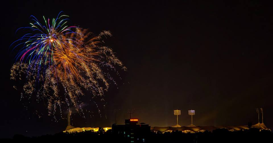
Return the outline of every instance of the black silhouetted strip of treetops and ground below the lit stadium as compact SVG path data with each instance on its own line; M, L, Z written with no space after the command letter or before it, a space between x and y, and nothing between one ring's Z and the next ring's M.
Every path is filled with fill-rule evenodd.
M259 129L251 128L246 131L228 131L227 129L216 129L212 132L205 131L203 133L182 133L181 131L173 131L172 133L150 133L145 137L147 143L218 143L218 142L272 142L273 134L271 131L259 131ZM17 141L17 142L130 142L123 136L114 135L110 130L104 132L85 131L81 133L57 133L55 135L44 135L39 137L25 137L23 135L15 135L13 139L0 139L1 141ZM140 139L139 142L141 142ZM135 142L138 142L137 140Z

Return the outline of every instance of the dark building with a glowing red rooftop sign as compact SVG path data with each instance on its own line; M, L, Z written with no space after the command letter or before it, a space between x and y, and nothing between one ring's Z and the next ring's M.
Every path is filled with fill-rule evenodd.
M114 134L124 136L128 142L146 142L146 136L151 132L148 124L138 124L138 119L125 119L125 125L112 125Z

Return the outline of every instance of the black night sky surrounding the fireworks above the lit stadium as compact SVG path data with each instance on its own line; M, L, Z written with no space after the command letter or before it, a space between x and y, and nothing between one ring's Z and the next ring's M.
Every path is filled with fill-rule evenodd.
M195 125L247 125L257 123L255 107L263 107L264 122L272 129L271 6L257 1L7 2L1 8L0 138L53 134L67 125L59 117L55 122L46 110L42 118L34 114L46 106L30 104L26 110L10 80L16 53L9 46L18 39L16 29L28 26L30 15L42 20L60 11L72 25L94 33L111 31L106 44L128 68L117 68L122 80L105 94L102 118L94 108L92 118L73 114L74 126L111 127L114 109L121 109L122 124L129 118L127 108L135 108L132 117L151 126L175 125L176 108L183 126L191 122L188 109L196 110Z

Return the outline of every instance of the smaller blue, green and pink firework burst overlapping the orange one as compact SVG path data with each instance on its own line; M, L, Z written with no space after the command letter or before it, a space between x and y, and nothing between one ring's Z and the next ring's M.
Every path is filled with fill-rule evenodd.
M23 44L23 47L16 55L16 61L20 58L20 62L34 64L34 66L38 65L38 70L40 70L42 64L44 66L53 64L53 51L54 49L59 50L59 46L56 45L61 45L65 40L73 40L73 38L67 39L67 37L63 39L63 35L75 33L71 29L76 28L76 26L68 27L65 25L69 20L67 18L69 16L61 15L61 13L62 11L51 22L49 18L46 20L43 16L45 25L42 25L34 16L30 16L33 21L30 23L31 27L21 27L19 29L30 29L32 33L28 33L15 41L24 41L13 48L14 50L17 46ZM63 44L65 45L65 43Z

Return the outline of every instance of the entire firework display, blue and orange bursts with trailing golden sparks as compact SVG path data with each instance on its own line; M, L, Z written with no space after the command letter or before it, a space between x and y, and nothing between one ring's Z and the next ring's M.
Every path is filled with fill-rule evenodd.
M60 14L51 21L44 18L45 25L31 16L31 27L23 28L32 33L12 44L24 41L13 48L23 45L16 56L18 62L11 68L11 79L25 74L23 96L36 94L37 99L47 99L49 115L54 114L57 107L70 108L71 104L80 112L83 89L103 99L104 91L109 88L107 80L113 78L102 67L114 69L114 65L118 65L126 70L113 50L102 46L102 37L111 36L109 31L93 35L87 29L67 26L68 16ZM59 94L60 89L64 95Z

